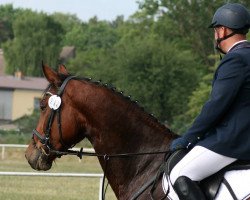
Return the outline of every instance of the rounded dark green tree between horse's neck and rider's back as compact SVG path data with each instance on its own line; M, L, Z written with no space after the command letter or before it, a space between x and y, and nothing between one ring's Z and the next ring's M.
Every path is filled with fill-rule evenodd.
M114 63L119 67L116 84L161 121L182 113L198 81L198 65L190 52L178 52L175 44L153 35L120 46L115 51L119 58Z

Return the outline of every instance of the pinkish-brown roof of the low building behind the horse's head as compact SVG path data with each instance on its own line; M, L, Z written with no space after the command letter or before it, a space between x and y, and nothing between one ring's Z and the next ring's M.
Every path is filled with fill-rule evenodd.
M0 88L44 90L47 85L48 81L45 78L24 77L21 79L14 76L0 76Z

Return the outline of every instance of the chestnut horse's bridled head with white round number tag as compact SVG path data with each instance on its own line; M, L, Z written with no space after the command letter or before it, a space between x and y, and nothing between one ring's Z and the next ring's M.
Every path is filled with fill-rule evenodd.
M43 73L49 86L40 101L40 119L25 152L35 170L49 170L58 157L56 151L65 151L85 137L85 122L74 104L74 77L64 66L55 72L44 65Z

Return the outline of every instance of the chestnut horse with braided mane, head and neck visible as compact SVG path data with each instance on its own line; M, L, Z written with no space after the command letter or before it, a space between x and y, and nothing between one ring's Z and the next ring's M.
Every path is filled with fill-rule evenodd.
M40 119L25 153L35 170L51 168L57 157L51 149L65 151L84 138L99 155L164 152L176 138L136 102L112 88L71 77L64 66L58 72L43 66L43 73L49 86L40 102ZM53 105L48 105L55 94L61 96L61 105L60 99L54 102L60 106L55 108L56 114L51 112ZM116 197L127 200L157 174L164 156L112 157L108 165L105 157L100 156L99 162ZM156 192L156 199L160 199L157 195L160 192ZM149 189L138 199L150 199Z

